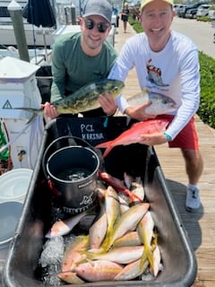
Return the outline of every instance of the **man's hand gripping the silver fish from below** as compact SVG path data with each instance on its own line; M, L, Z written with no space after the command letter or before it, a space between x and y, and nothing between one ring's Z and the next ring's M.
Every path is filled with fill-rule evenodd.
M128 107L125 109L125 114L139 121L144 121L148 118L155 118L157 115L149 115L145 112L145 109L149 107L150 104L151 102L147 101L138 107Z

